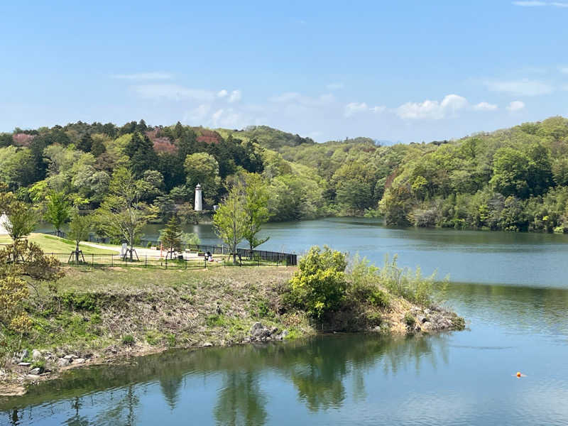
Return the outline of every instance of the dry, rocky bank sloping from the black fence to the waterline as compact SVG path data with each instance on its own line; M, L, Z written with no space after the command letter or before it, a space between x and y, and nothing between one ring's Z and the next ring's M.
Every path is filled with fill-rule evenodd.
M74 288L73 274L80 272L68 271L65 292L31 300L41 327L23 342L27 349L0 367L0 395L21 395L69 368L130 362L172 348L273 342L322 331L423 334L464 328L454 312L402 299L384 309L338 312L322 327L302 312L282 312L279 295L291 273L291 268L195 271L182 281L176 271L139 278L131 271L94 271L80 276L82 286ZM116 285L124 282L128 285Z

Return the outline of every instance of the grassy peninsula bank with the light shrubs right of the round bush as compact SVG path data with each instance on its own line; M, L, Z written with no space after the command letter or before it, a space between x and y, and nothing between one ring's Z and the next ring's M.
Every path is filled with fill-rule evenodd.
M389 284L387 269L381 276L363 263L346 275L352 283L342 304L315 319L290 302L296 270L65 268L55 285L34 284L26 301L33 327L23 337L5 336L4 348L11 350L4 352L0 381L21 386L35 366L68 368L65 356L84 365L172 347L294 339L321 330L404 334L463 327L452 312L411 301L421 290L404 282L404 275ZM31 365L17 366L14 348L27 349L21 361ZM39 360L32 359L33 349L41 352Z

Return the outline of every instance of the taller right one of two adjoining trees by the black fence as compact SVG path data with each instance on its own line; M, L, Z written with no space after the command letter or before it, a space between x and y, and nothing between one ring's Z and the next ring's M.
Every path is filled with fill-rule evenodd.
M261 175L246 173L244 181L239 185L244 195L244 213L246 217L246 229L244 239L249 241L251 249L250 256L253 256L253 249L266 243L270 237L264 239L256 238L256 234L261 230L261 226L270 219L268 211L269 192L267 185L263 182Z

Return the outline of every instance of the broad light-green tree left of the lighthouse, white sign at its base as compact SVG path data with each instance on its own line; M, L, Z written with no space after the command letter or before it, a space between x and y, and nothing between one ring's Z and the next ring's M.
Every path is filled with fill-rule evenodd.
M140 201L141 182L126 168L114 172L109 191L97 209L97 226L111 238L124 239L129 244L126 253L133 261L134 243L148 220L156 217L157 209Z

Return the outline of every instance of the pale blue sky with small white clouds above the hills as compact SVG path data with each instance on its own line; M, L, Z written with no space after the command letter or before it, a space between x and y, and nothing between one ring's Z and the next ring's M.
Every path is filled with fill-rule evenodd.
M4 1L0 131L420 142L568 116L566 1Z

